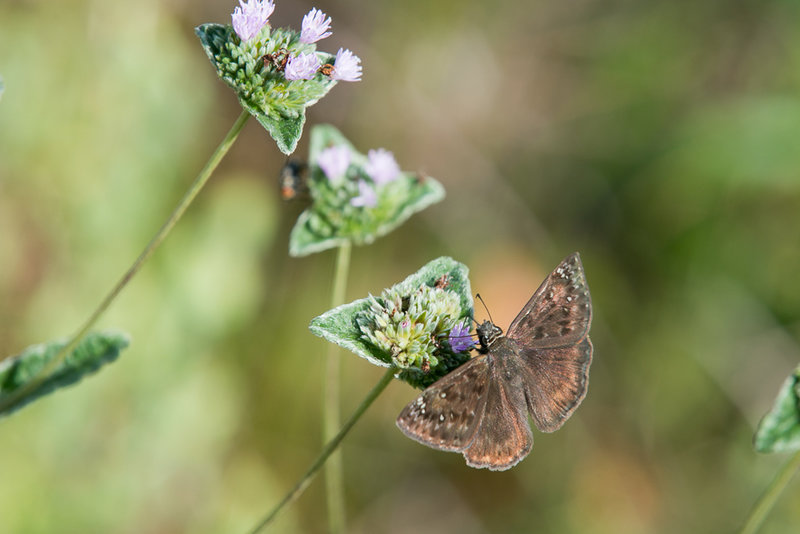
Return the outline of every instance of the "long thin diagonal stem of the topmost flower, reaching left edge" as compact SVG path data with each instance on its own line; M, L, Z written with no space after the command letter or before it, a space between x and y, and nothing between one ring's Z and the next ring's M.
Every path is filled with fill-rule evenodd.
M175 226L175 223L178 222L183 213L186 211L186 208L189 207L189 204L192 203L192 201L195 199L197 194L203 188L205 183L211 177L211 173L214 172L214 169L217 168L219 162L222 160L225 154L227 154L231 145L236 140L236 137L239 135L239 132L242 131L242 128L244 127L248 118L250 118L250 114L247 113L246 111L243 111L242 114L239 115L239 118L236 119L236 122L233 123L233 126L231 127L230 131L228 131L228 135L225 136L225 139L222 140L222 142L219 144L214 153L211 154L211 157L209 158L208 162L206 162L205 167L203 167L203 170L201 170L200 174L197 175L197 178L195 178L194 182L189 187L189 190L186 191L186 194L184 194L180 203L178 203L178 206L169 216L169 218L161 227L161 229L158 231L158 233L156 233L156 235L153 236L153 238L150 240L150 243L147 244L147 246L139 255L139 257L136 258L136 261L133 262L133 265L131 265L130 268L127 270L127 272L124 275L122 275L122 278L120 278L120 280L117 282L117 285L115 285L114 288L108 293L108 295L106 295L106 297L97 307L97 309L95 309L94 312L92 312L92 314L83 324L83 326L81 326L80 330L78 330L70 338L69 342L66 345L64 345L64 347L60 351L58 351L55 357L52 360L50 360L50 362L47 365L45 365L41 371L39 371L36 377L30 382L28 382L28 384L25 387L22 387L17 391L15 391L13 395L9 395L5 399L5 402L0 403L0 412L4 411L9 406L12 406L17 401L24 398L33 389L38 387L44 380L47 379L47 377L59 365L61 365L61 363L67 357L67 354L72 352L75 349L75 347L78 346L78 343L80 343L83 337L95 325L98 319L100 319L100 317L108 309L108 307L111 305L114 299L117 298L117 296L120 294L123 288L128 284L128 282L131 281L134 275L137 272L139 272L139 269L142 267L144 262L146 262L150 258L150 256L152 256L153 252L155 252L155 250L158 248L161 242L164 241L164 238L167 237L167 234L169 234L170 230L172 230L172 228Z

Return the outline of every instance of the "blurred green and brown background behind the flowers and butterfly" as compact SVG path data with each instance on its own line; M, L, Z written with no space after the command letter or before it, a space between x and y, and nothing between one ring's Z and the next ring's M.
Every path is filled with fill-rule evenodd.
M354 250L348 300L450 255L505 327L579 250L595 308L585 402L511 471L405 438L416 392L392 384L344 442L349 531L738 528L785 461L751 437L800 360L800 4L279 0L271 22L313 6L364 77L308 125L448 191ZM0 354L71 334L225 135L238 104L193 28L233 7L0 4ZM305 471L334 254L287 256L284 161L250 121L102 320L131 347L0 421L0 531L244 532ZM342 371L347 414L383 371ZM275 531L324 532L322 487ZM763 532L796 532L798 499Z

